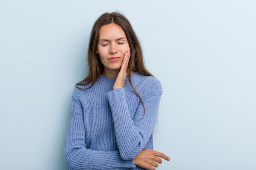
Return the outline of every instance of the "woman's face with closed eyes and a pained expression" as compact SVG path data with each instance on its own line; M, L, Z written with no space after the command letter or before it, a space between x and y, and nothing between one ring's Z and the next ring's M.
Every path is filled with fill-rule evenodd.
M115 23L101 26L96 53L104 66L103 75L119 72L127 51L130 51L130 46L121 26Z

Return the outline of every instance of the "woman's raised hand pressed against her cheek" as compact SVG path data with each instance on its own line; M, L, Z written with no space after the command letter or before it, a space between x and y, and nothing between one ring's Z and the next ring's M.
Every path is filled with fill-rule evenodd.
M127 51L127 53L124 54L124 59L123 62L121 64L121 69L117 75L117 79L115 81L115 84L113 86L113 89L116 88L122 88L124 87L124 83L125 83L125 79L126 79L126 75L127 75L127 67L128 67L128 63L130 60L130 51Z

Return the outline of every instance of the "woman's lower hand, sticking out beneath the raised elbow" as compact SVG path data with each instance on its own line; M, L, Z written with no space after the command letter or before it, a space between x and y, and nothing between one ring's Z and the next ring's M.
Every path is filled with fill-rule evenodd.
M133 160L133 163L134 165L140 166L141 168L146 168L148 170L155 170L154 167L158 167L158 163L162 163L162 159L160 159L159 157L167 161L170 160L169 157L167 157L161 152L157 152L156 150L152 150L152 149L144 149Z

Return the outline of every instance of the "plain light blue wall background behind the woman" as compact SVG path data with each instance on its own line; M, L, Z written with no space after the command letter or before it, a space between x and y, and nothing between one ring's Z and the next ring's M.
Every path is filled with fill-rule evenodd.
M1 0L0 169L65 170L92 24L119 10L163 86L159 170L256 169L254 0Z

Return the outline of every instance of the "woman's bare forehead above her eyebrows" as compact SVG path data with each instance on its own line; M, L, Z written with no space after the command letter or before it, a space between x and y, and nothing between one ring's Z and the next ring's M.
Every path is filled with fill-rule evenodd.
M107 39L107 40L112 40L112 39L118 39L121 37L126 38L126 34L124 30L121 28L120 25L115 24L115 23L110 23L101 26L99 29L99 39Z

